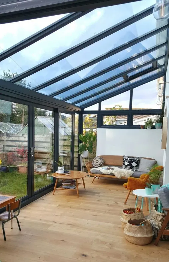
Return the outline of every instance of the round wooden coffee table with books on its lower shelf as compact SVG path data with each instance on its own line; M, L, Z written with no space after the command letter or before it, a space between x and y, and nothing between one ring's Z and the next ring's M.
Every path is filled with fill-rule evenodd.
M76 185L75 185L75 188L74 189L70 189L70 188L63 188L62 186L61 187L58 187L58 189L62 189L62 190L70 190L70 191L77 191L77 197L79 197L79 186L80 185L83 185L84 186L84 189L86 190L85 188L85 182L84 182L84 177L87 176L88 174L86 172L82 172L82 171L73 171L73 170L70 170L70 173L69 175L62 175L62 174L58 174L58 173L53 173L52 176L56 178L56 183L55 183L55 186L54 186L54 190L53 190L53 195L55 193L55 190L56 190L56 186L57 186L57 183L58 183L58 180L59 178L61 179L76 179ZM82 178L83 180L83 183L78 183L77 179L80 179Z

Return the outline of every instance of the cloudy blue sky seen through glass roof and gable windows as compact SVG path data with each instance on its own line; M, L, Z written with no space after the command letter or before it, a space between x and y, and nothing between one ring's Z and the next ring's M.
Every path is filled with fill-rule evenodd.
M58 53L61 53L68 48L71 48L74 45L79 44L80 42L92 37L93 35L98 34L99 32L109 28L110 26L120 23L122 20L134 14L137 14L138 12L155 4L155 2L155 0L144 0L123 5L95 9L85 16L52 33L51 35L12 55L10 58L7 58L4 61L0 62L0 75L2 74L2 70L8 71L9 69L11 70L11 72L17 72L18 74L22 73L25 70L28 70L31 67L44 62L46 59L50 59ZM59 20L64 16L65 14L0 25L0 51L8 49L12 45L16 44L18 41L23 40L29 35L43 29L45 26L54 23L56 20ZM143 24L145 24L145 26L143 26ZM61 75L71 69L76 68L77 66L80 66L83 63L88 62L90 59L94 59L95 57L108 52L112 48L117 47L119 44L124 44L134 39L135 37L138 37L152 29L155 29L156 26L156 20L153 19L152 15L145 17L144 19L137 21L136 23L120 30L119 32L116 32L102 39L101 41L98 41L95 44L92 44L91 46L86 47L83 50L72 54L71 56L68 56L67 58L53 64L52 66L49 66L27 77L26 82L30 82L31 87L42 84L43 82L48 81L51 78ZM158 35L158 41L164 42L165 39L165 34ZM107 66L120 61L122 57L124 57L124 55L126 57L130 57L130 52L133 52L132 55L134 55L134 53L136 52L138 53L142 50L145 50L146 48L152 47L156 41L157 37L154 36L149 39L149 41L143 41L141 45L137 45L133 47L133 49L131 48L132 50L125 50L125 53L123 52L121 54L118 54L119 56L115 55L110 57L109 59L105 59L99 63L96 63L80 72L77 72L74 75L71 75L64 80L61 80L51 86L40 90L39 92L50 94L63 87L67 87L68 85L71 85L74 82L85 78L86 76L89 76L95 72L98 72L99 70L106 68ZM157 53L151 54L151 57L155 57L156 55ZM137 65L139 65L140 63L143 63L143 61L137 61ZM111 75L116 75L116 73L122 72L124 71L124 69L125 68L119 69L121 71L110 72L109 75L103 75L103 78L107 79L106 77L109 78ZM56 98L62 99L71 95L72 93L79 92L80 90L83 90L84 88L90 87L92 84L95 84L96 81L100 81L100 79L95 79L89 83L86 83L85 86L78 86L70 92L65 92L60 96L57 96ZM109 83L108 86L110 86ZM93 90L92 93L94 92L97 95L97 92L99 90L106 87L107 85L105 87L99 87L98 89ZM152 108L152 106L154 105L154 101L156 100L155 83L149 84L148 91L146 87L143 88L143 90L151 93L151 95L153 93L153 102L152 98L145 99L146 92L137 91L139 95L135 95L135 101L137 101L136 104L139 107L144 106L146 108ZM90 93L80 96L80 98L88 95L90 95ZM109 99L107 101L107 107L112 107L112 103L116 103L117 100L119 101L119 98L116 97L112 99L114 100ZM121 104L127 107L128 96L126 96L126 94L124 93L120 96L120 99ZM142 101L143 99L144 102Z

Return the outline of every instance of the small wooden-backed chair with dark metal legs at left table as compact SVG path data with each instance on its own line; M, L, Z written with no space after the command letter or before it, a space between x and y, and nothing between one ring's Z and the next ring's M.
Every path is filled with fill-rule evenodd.
M17 208L18 208L18 212L17 212L17 215L15 215L12 211L14 209L17 209ZM3 235L4 235L5 241L6 241L6 236L5 236L4 225L5 225L6 222L11 220L11 229L12 229L12 219L16 218L19 230L21 231L20 224L19 224L19 221L18 221L18 218L17 218L17 216L20 213L20 208L21 208L21 200L17 200L15 202L8 204L6 206L6 212L3 212L2 214L0 214L0 221L2 221L2 230L3 230Z

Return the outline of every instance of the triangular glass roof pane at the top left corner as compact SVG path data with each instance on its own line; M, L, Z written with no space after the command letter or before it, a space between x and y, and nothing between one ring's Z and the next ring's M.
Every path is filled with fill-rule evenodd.
M67 14L0 24L0 52L35 34Z

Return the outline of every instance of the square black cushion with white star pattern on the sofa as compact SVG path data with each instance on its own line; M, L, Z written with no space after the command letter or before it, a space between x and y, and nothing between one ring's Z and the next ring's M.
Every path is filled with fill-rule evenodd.
M140 157L129 157L129 156L123 156L123 165L121 169L128 169L134 171L138 171L138 163L139 163Z

